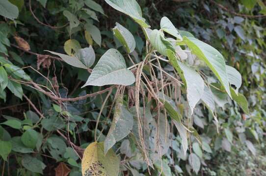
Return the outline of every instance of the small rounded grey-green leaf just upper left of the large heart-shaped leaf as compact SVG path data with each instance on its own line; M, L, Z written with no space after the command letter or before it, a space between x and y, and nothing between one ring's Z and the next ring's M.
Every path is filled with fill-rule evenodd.
M87 68L91 67L95 62L95 52L92 46L80 49L77 57Z

